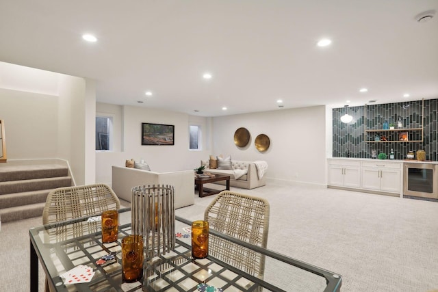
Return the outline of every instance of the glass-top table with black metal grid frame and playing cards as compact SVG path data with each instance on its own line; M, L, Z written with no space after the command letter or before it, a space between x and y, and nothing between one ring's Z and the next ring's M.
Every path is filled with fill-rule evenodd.
M263 279L227 264L226 259L220 261L212 256L194 259L191 254L191 235L187 232L191 222L178 216L175 222L177 237L172 252L158 256L153 263L145 259L142 280L123 282L120 245L121 239L131 234L130 208L119 210L119 222L118 241L114 243L102 243L101 222L89 220L89 217L29 229L30 290L38 291L38 261L51 291L201 291L202 287L198 287L201 283L227 292L261 291L261 287L262 291L312 292L340 291L341 288L342 276L339 274L215 230L210 230L210 233L265 254ZM115 254L114 260L100 265L96 263L107 254ZM78 265L93 269L92 280L64 284L61 275Z

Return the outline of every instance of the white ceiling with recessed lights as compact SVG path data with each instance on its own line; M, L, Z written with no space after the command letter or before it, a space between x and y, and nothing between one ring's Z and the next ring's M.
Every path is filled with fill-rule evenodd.
M427 10L438 0L0 0L0 61L198 116L438 98L438 14L415 21Z

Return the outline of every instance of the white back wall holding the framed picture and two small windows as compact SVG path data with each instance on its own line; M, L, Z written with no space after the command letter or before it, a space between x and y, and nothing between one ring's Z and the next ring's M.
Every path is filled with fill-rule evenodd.
M125 166L126 159L144 159L156 172L191 170L207 159L211 152L211 119L194 117L175 111L97 103L96 111L113 117L114 149L96 152L96 183L111 185L112 165ZM175 145L142 145L142 122L175 125ZM189 150L189 123L205 129L203 150ZM120 131L119 131L120 129Z

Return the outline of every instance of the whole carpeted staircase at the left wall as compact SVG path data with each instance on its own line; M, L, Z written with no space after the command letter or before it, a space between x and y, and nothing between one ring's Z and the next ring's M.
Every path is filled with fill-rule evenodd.
M60 164L1 165L0 218L2 223L42 215L47 195L72 185L67 166Z

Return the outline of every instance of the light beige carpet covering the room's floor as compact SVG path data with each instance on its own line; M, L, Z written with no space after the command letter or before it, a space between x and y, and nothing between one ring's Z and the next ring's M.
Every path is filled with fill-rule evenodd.
M272 183L253 190L231 190L268 199L268 248L341 274L341 291L438 288L437 202ZM196 196L195 204L178 209L177 215L202 219L213 198ZM2 224L0 291L29 290L28 229L40 222L34 218ZM12 261L23 263L18 277L16 269L5 264ZM267 262L266 279L282 277L287 278L282 283L286 291L321 291L318 288L324 284L307 273L291 274ZM43 280L40 271L40 291Z

